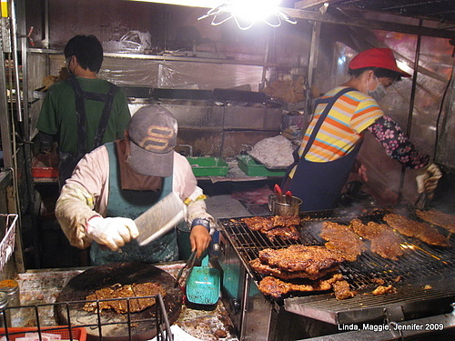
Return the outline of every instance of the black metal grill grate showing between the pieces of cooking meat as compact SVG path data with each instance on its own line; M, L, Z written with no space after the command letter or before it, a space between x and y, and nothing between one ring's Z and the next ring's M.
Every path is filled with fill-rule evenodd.
M264 248L278 249L295 244L324 245L325 240L319 236L323 221L348 225L351 219L357 217L364 222L382 222L382 216L391 212L418 219L412 208L408 206L374 208L370 211L344 209L305 213L302 224L299 226L301 236L299 241L281 237L269 240L268 236L258 231L251 231L241 221L241 218L220 219L219 223L226 231L238 254L248 265L249 261L257 258L259 251ZM448 235L446 230L440 229L440 232L445 236ZM403 249L404 255L400 256L397 261L382 258L368 250L359 256L356 262L342 264L340 270L349 285L355 290L360 290L378 286L378 278L388 284L393 284L394 282L411 283L422 278L430 278L430 282L432 282L435 279L453 276L455 272L455 242L453 240L450 241L450 247L432 247L412 237L401 236L401 238L404 245L412 248ZM256 280L264 277L252 268L249 268L249 271Z

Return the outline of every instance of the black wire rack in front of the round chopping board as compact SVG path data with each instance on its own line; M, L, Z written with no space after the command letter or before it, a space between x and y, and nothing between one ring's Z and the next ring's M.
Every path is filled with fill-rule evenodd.
M150 299L155 298L156 305L152 308L154 311L150 314L150 318L136 318L133 313L130 311L130 300L131 299ZM126 301L127 312L124 315L119 314L118 320L115 321L106 321L103 319L102 312L99 309L100 303L105 301ZM80 323L78 321L77 316L72 316L70 311L72 307L81 307L85 306L89 303L96 303L98 307L96 312L94 313L93 321L94 323ZM43 309L51 309L56 311L58 308L63 309L66 312L66 321L68 321L67 325L64 326L45 326L46 323L43 323L42 318L40 317L40 313L42 313ZM3 315L5 329L0 332L0 336L6 336L6 340L14 340L15 337L19 335L23 335L25 330L18 330L18 329L25 329L25 328L12 328L7 326L7 318L6 316L9 313L16 313L18 310L29 309L33 311L36 321L36 332L39 335L40 340L43 339L42 333L52 333L52 331L62 331L65 330L68 332L68 339L71 341L85 341L82 339L76 338L74 335L74 330L77 328L89 328L92 331L96 330L96 333L87 333L88 339L90 340L90 336L96 337L96 340L103 341L112 339L112 337L118 336L106 336L104 334L104 328L106 326L126 326L127 329L127 336L125 336L125 340L137 340L137 336L134 334L134 326L140 323L146 323L149 326L152 326L151 329L155 328L156 333L150 334L151 337L156 336L157 341L173 341L174 336L170 330L169 320L167 318L167 309L163 300L163 297L158 294L157 296L135 296L135 297L127 297L127 298L106 298L106 299L96 299L96 300L84 300L84 301L72 301L72 302L58 302L58 303L49 303L49 304L40 304L40 305L30 305L30 306L8 306L4 309L0 309L0 314ZM10 336L15 336L14 338ZM140 337L140 336L139 336ZM147 339L150 337L147 337ZM139 338L142 339L142 338ZM144 338L146 339L146 338Z

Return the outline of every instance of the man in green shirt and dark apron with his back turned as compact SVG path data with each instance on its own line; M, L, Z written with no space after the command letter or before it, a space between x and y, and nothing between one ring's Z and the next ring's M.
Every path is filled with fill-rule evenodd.
M58 144L60 187L82 156L123 136L131 118L123 91L97 77L103 46L95 35L74 36L64 52L71 76L49 87L36 124L43 152Z

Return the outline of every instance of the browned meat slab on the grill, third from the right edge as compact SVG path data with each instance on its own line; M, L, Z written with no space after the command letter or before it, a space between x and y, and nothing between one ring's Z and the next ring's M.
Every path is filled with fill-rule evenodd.
M371 251L379 256L398 260L403 255L401 238L389 226L372 221L365 225L359 219L352 219L349 226L362 238L369 239Z

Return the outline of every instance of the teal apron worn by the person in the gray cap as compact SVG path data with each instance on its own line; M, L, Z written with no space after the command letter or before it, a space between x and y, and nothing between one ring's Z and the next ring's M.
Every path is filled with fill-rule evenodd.
M122 190L116 145L113 142L107 143L106 148L109 155L109 198L106 216L123 216L134 220L172 191L172 176L164 178L161 192ZM117 262L158 263L175 261L178 259L177 232L174 228L147 246L139 246L136 240L133 240L126 243L121 249L122 252L104 250L96 242L93 242L90 246L91 265L99 266Z

